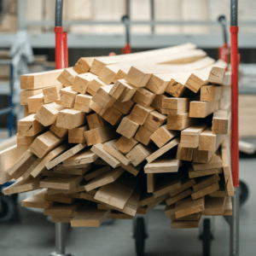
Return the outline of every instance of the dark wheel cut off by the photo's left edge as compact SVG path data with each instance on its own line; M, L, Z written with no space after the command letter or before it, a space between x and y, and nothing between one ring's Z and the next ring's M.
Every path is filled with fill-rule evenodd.
M15 217L16 204L9 196L0 196L0 222L9 222Z

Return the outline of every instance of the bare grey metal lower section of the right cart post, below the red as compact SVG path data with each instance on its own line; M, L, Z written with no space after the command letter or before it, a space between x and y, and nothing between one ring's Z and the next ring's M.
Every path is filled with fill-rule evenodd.
M235 188L233 197L233 216L230 222L230 256L239 256L239 215L240 215L240 189Z

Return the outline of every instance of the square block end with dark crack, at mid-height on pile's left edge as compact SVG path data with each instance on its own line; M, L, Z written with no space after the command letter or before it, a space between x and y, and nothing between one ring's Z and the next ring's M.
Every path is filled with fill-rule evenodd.
M25 137L31 137L37 135L39 132L44 131L44 125L41 125L37 119L35 119L35 114L32 113L24 119L20 119L18 122L18 132Z

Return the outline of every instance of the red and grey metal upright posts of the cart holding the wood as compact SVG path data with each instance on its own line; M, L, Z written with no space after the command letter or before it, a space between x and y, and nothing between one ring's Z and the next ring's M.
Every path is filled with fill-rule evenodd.
M62 29L63 0L55 2L55 68L68 67L67 33ZM230 224L230 256L239 256L239 148L238 148L238 25L237 9L238 0L230 0L230 34L231 34L231 168L235 195L233 197L233 215L225 219ZM126 21L130 22L130 21ZM65 236L67 224L55 224L55 246L56 252L51 256L70 256L65 253Z

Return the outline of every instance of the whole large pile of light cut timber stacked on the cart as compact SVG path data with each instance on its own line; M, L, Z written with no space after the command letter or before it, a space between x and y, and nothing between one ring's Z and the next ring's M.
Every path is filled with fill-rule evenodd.
M99 226L166 202L172 228L232 214L230 74L194 44L80 58L21 76L17 145L0 153L4 194L54 222Z

